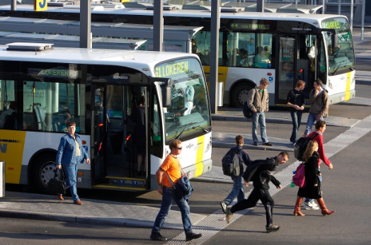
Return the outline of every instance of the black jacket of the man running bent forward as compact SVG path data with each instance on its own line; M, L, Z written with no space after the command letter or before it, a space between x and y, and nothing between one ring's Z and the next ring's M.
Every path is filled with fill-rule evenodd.
M246 169L242 176L246 182L253 181L253 188L269 189L269 181L275 186L280 186L275 176L270 171L275 171L278 167L277 156L268 157L266 160L256 160Z

